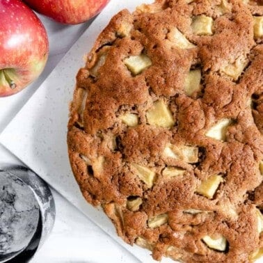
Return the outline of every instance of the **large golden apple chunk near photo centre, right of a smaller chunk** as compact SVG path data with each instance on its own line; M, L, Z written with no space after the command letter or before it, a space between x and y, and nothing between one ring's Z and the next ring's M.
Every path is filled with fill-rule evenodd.
M170 109L168 109L168 106L162 100L154 102L152 108L146 112L146 118L148 123L154 126L168 128L175 125Z

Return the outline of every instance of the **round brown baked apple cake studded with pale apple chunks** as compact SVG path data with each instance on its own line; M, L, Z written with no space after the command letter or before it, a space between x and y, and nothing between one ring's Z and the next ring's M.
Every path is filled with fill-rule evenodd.
M77 74L67 144L86 200L154 260L263 255L263 1L122 10Z

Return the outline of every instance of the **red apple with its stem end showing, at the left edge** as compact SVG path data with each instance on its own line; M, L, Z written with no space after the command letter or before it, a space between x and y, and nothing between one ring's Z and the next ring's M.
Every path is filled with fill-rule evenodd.
M37 79L49 42L45 27L20 0L0 0L0 97L13 95Z

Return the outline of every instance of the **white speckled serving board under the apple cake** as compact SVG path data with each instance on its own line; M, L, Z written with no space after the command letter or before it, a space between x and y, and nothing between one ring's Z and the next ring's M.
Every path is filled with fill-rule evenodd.
M141 262L154 262L150 252L125 244L104 213L83 199L67 157L66 136L68 106L72 99L75 76L79 67L84 65L83 55L90 51L97 35L115 13L123 8L133 11L141 3L152 1L111 0L0 135L2 145ZM171 260L164 259L162 262Z

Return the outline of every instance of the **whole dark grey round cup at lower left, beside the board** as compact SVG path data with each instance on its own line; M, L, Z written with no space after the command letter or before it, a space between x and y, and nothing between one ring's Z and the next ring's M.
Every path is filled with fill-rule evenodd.
M38 175L22 166L0 168L0 262L31 260L51 232L55 214L49 186Z

